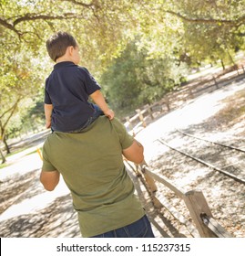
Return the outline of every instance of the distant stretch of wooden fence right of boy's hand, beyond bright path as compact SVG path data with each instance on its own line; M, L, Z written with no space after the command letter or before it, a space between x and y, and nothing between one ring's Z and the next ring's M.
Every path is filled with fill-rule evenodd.
M134 116L125 118L124 125L128 131L135 135L138 133L139 127L146 128L148 122L150 123L155 119L156 112L160 115L168 113L205 92L216 91L219 88L232 82L243 80L244 78L244 67L233 66L216 75L212 75L209 79L183 85L178 90L166 94L160 101L151 105L147 104L142 110L137 109L137 113Z

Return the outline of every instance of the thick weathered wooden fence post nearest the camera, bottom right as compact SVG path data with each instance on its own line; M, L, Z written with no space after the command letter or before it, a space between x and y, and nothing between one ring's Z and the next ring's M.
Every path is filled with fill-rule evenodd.
M189 191L185 193L185 197L183 197L183 199L187 208L189 208L190 216L199 231L200 237L215 238L216 236L207 228L206 225L204 225L203 220L201 219L201 215L203 214L212 218L209 205L203 196L203 193L201 191Z

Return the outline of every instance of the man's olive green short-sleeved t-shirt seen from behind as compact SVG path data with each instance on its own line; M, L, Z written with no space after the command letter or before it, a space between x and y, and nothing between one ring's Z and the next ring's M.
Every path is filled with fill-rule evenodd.
M42 169L63 176L83 237L122 228L145 214L122 158L132 143L124 125L106 116L82 133L55 132L46 139Z

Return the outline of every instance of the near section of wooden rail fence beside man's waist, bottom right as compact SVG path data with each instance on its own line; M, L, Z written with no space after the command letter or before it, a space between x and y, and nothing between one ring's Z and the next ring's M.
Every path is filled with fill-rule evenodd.
M132 165L128 164L128 162L127 165L139 175L144 176L153 205L156 208L167 208L175 219L178 219L180 223L189 229L189 232L193 237L233 238L233 236L213 218L207 200L201 191L191 190L184 192L181 188L172 185L168 178L154 174L149 170L148 165L140 165L140 168L138 168L138 165L135 165L137 167L134 168ZM156 191L158 190L156 181L168 187L174 192L176 197L184 200L195 227L189 222L189 220L187 220L187 218L179 214L176 208L169 204L166 197L161 195L157 198L155 196Z

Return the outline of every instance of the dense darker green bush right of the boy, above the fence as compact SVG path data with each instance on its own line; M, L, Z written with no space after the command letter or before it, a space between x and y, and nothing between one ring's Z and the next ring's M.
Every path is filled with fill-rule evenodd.
M149 59L147 50L133 41L104 72L101 84L109 104L121 115L159 100L180 83L180 71L175 59Z

